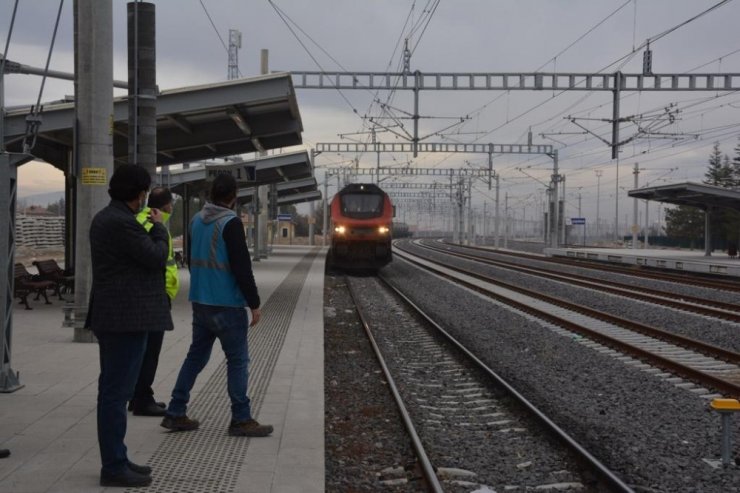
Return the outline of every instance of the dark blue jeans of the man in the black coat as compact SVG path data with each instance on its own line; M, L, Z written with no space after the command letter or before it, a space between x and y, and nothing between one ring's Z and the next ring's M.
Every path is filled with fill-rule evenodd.
M126 403L134 395L146 349L146 332L95 332L100 346L98 378L98 445L105 474L128 468L123 439L126 436Z

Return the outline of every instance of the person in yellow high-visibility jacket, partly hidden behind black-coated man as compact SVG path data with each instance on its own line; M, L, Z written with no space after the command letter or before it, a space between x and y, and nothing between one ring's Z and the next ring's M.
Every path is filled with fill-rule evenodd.
M153 226L149 220L151 210L159 209L162 212L162 224L166 224L172 215L172 206L172 192L165 187L155 187L149 193L147 206L137 214L136 220L144 226L144 229L149 231ZM172 307L172 300L175 299L177 291L180 289L180 279L177 274L177 262L175 262L172 251L172 235L169 234L169 230L167 234L169 236L169 254L163 275L165 276L165 290L170 301L170 307ZM139 370L134 397L128 406L129 411L133 411L135 416L164 416L165 414L165 403L157 402L152 390L163 340L163 331L147 333L146 353L144 353L144 360L141 363L141 370Z

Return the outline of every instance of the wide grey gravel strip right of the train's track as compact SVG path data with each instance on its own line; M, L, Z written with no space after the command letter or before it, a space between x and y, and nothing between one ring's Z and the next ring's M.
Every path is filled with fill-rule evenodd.
M636 491L740 492L737 468L703 460L717 459L720 444L706 400L399 259L381 272ZM645 319L640 307L622 310ZM680 317L694 330L698 317Z

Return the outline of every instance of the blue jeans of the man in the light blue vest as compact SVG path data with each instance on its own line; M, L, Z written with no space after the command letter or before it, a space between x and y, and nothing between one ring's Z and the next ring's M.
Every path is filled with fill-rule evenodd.
M193 303L193 342L177 375L172 400L167 407L170 416L185 416L190 391L198 374L208 363L216 339L226 354L226 380L234 421L252 419L247 397L249 319L244 308L209 306Z

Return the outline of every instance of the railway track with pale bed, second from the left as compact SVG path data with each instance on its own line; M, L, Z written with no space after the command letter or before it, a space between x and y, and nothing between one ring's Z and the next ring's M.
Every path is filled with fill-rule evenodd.
M422 259L400 249L396 254L438 276L546 321L557 330L579 334L653 367L668 370L670 373L660 374L663 377L679 375L714 391L740 395L739 353L504 283L472 269L452 266L439 260ZM676 381L676 384L697 393L712 395L712 390L691 383Z

